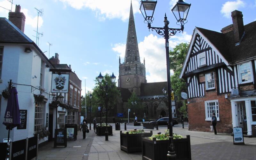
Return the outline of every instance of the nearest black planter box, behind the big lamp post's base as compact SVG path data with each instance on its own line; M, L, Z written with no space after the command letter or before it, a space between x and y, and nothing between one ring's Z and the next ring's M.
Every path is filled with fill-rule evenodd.
M190 136L174 141L176 160L191 160ZM142 138L143 160L167 160L169 140L149 140Z

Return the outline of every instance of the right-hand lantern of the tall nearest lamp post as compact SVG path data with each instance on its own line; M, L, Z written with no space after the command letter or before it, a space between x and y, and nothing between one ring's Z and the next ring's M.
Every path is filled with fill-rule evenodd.
M188 11L191 4L183 2L183 0L179 0L177 4L172 8L172 13L174 14L177 22L184 22L187 20Z

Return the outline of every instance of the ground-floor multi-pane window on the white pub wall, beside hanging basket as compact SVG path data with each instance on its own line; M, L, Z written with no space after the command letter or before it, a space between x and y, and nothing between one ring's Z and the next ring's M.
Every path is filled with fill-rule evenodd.
M44 102L36 102L34 131L40 131L44 127Z

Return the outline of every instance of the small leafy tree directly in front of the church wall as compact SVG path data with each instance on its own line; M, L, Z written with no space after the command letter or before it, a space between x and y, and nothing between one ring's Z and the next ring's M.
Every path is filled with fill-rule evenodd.
M143 117L144 116L144 109L142 106L142 103L140 101L140 99L137 97L135 92L132 92L131 97L128 99L128 104L126 106L127 108L131 109L131 116L133 116L133 113L135 113L135 116L137 117ZM126 110L127 110L126 108Z

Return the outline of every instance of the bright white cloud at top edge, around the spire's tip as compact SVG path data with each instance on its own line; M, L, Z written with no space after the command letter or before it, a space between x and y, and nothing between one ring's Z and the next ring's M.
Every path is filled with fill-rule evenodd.
M60 0L77 10L90 8L99 20L120 18L127 20L130 13L130 0ZM139 12L140 0L132 0L133 13Z

